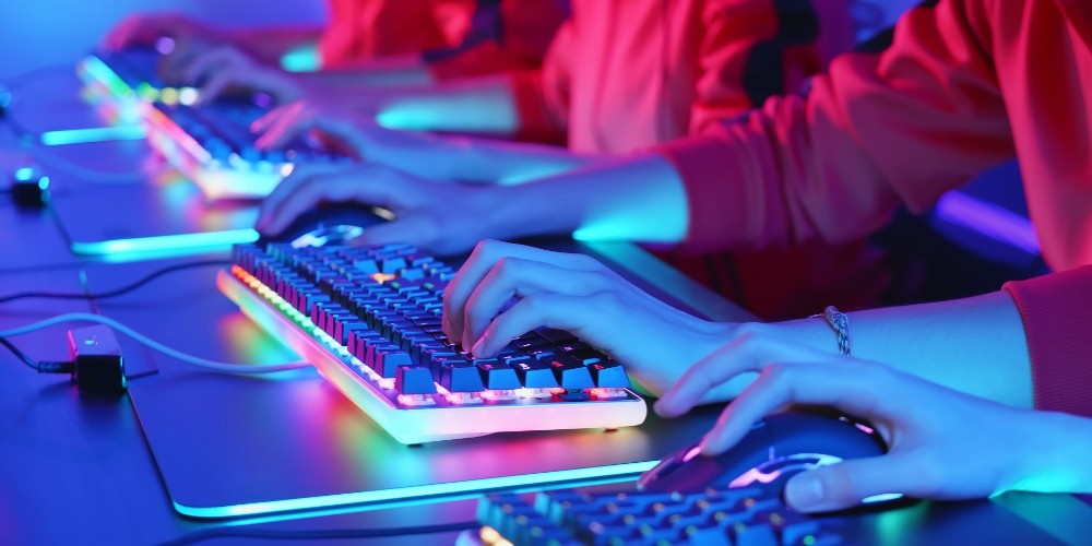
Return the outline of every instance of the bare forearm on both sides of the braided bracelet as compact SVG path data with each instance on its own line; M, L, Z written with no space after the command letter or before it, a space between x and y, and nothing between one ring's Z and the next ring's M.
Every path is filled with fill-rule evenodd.
M854 356L976 396L1033 406L1028 342L1020 313L1005 292L847 314ZM834 333L823 320L769 327L807 345L836 349Z

